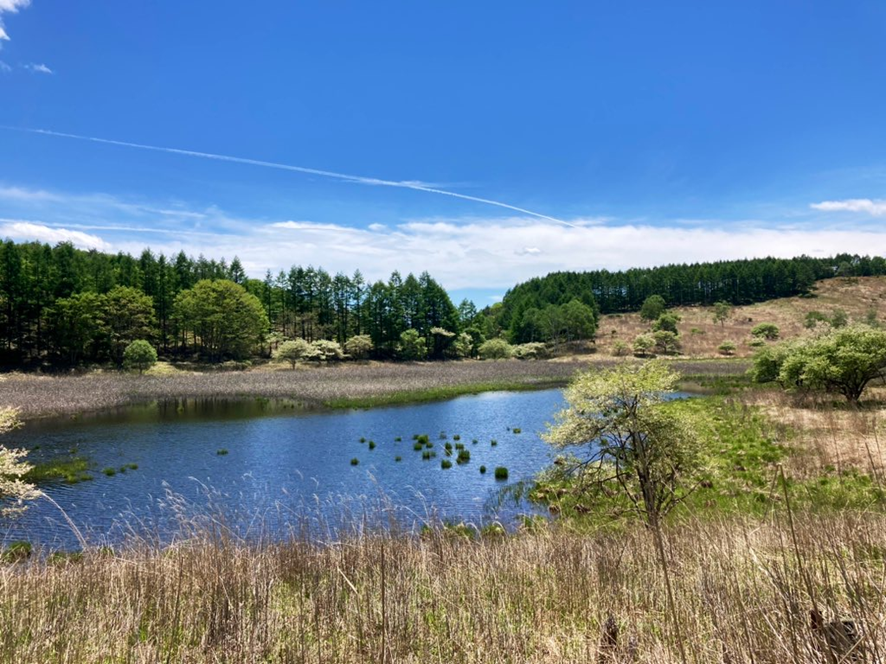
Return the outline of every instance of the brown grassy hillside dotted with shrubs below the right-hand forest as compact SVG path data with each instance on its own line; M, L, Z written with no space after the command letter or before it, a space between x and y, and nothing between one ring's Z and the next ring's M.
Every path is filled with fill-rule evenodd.
M717 347L723 341L731 340L738 346L735 355L748 357L754 352L754 348L748 345L752 339L751 330L759 323L775 323L781 329L781 338L789 339L810 333L803 323L811 311L830 317L835 310L843 310L853 321L864 320L871 309L876 311L878 320L884 320L886 277L818 281L811 297L787 297L734 307L723 325L714 322L713 307L674 307L671 310L682 317L678 329L684 355L719 357ZM601 316L597 331L598 352L611 354L617 340L630 345L634 337L648 331L649 327L647 321L640 319L639 313Z

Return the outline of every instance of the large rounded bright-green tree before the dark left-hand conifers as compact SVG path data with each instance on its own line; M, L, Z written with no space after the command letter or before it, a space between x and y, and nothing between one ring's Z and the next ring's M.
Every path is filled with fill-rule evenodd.
M175 319L183 344L212 361L247 357L268 331L259 299L227 279L203 279L179 293Z

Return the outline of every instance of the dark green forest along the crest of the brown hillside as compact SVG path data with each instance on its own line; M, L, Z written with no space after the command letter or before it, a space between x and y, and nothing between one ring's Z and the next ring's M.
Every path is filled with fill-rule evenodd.
M574 299L600 313L637 311L650 295L668 306L742 305L806 294L819 279L886 274L886 259L840 254L831 258L759 258L691 265L666 265L622 272L555 272L515 286L496 315L511 341L538 339L550 306Z

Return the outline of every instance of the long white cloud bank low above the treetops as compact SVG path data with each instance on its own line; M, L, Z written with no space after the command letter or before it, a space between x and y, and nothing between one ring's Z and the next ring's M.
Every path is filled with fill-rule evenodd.
M448 289L506 289L562 270L619 270L803 253L886 253L886 233L871 230L644 225L576 229L526 219L411 222L387 232L298 222L255 225L244 221L243 226L243 234L181 238L171 232L159 243L159 238L152 237L150 244L167 255L182 249L216 258L236 254L252 276L260 277L266 269L276 273L292 265L309 264L322 265L333 273L350 274L359 268L370 280L386 279L394 269L403 274L427 270ZM141 251L145 244L142 237L115 241L118 249L132 253ZM536 248L539 253L526 253L526 248Z

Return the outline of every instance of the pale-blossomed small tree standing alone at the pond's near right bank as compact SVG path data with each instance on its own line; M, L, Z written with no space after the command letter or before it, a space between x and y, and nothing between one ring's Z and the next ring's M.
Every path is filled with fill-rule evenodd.
M693 420L663 406L677 380L658 361L581 373L544 436L560 448L581 448L565 471L623 494L653 527L691 492L701 465Z

